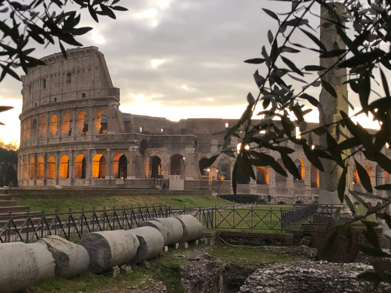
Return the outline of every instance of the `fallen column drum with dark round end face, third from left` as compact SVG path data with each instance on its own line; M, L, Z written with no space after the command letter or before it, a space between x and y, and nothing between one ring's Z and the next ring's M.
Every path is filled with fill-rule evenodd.
M80 245L87 249L91 272L97 274L132 261L139 240L124 230L92 232L82 236Z

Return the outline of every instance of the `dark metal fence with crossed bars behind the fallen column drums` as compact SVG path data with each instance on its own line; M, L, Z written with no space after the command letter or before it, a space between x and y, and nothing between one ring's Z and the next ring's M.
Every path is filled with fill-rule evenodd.
M9 214L0 217L0 243L35 242L49 235L58 235L78 242L85 233L128 230L153 218L191 214L205 229L243 231L289 231L305 223L329 223L331 205L294 205L281 207L263 205L232 205L198 209L171 209L167 205L103 209L68 213Z

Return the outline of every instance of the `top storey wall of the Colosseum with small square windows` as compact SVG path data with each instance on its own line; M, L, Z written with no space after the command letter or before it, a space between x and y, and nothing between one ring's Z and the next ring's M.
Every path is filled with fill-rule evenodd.
M97 47L67 50L41 58L45 66L37 66L22 76L23 111L48 103L100 96L116 96L104 55ZM110 90L109 90L110 88ZM101 90L103 89L103 90Z

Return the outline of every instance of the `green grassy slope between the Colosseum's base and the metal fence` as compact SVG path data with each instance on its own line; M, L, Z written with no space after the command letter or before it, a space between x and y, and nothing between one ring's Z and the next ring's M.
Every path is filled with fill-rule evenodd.
M96 198L50 198L50 197L17 197L16 201L20 206L29 206L31 211L42 211L46 213L53 213L55 209L60 209L61 212L68 212L71 208L73 211L80 211L81 208L84 210L92 210L93 207L96 209L102 209L107 207L112 209L113 206L116 208L122 208L124 205L126 208L130 208L131 205L158 205L166 204L171 208L183 208L183 207L207 207L215 205L230 205L233 204L230 201L222 200L212 196L100 196Z

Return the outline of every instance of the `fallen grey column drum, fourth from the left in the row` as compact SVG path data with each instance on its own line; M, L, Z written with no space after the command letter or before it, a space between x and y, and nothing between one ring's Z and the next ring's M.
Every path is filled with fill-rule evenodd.
M159 254L165 246L164 238L159 230L153 227L139 227L136 229L128 230L128 233L134 233L139 239L140 246L137 249L136 256L133 258L132 263L138 264L142 261L148 261Z

